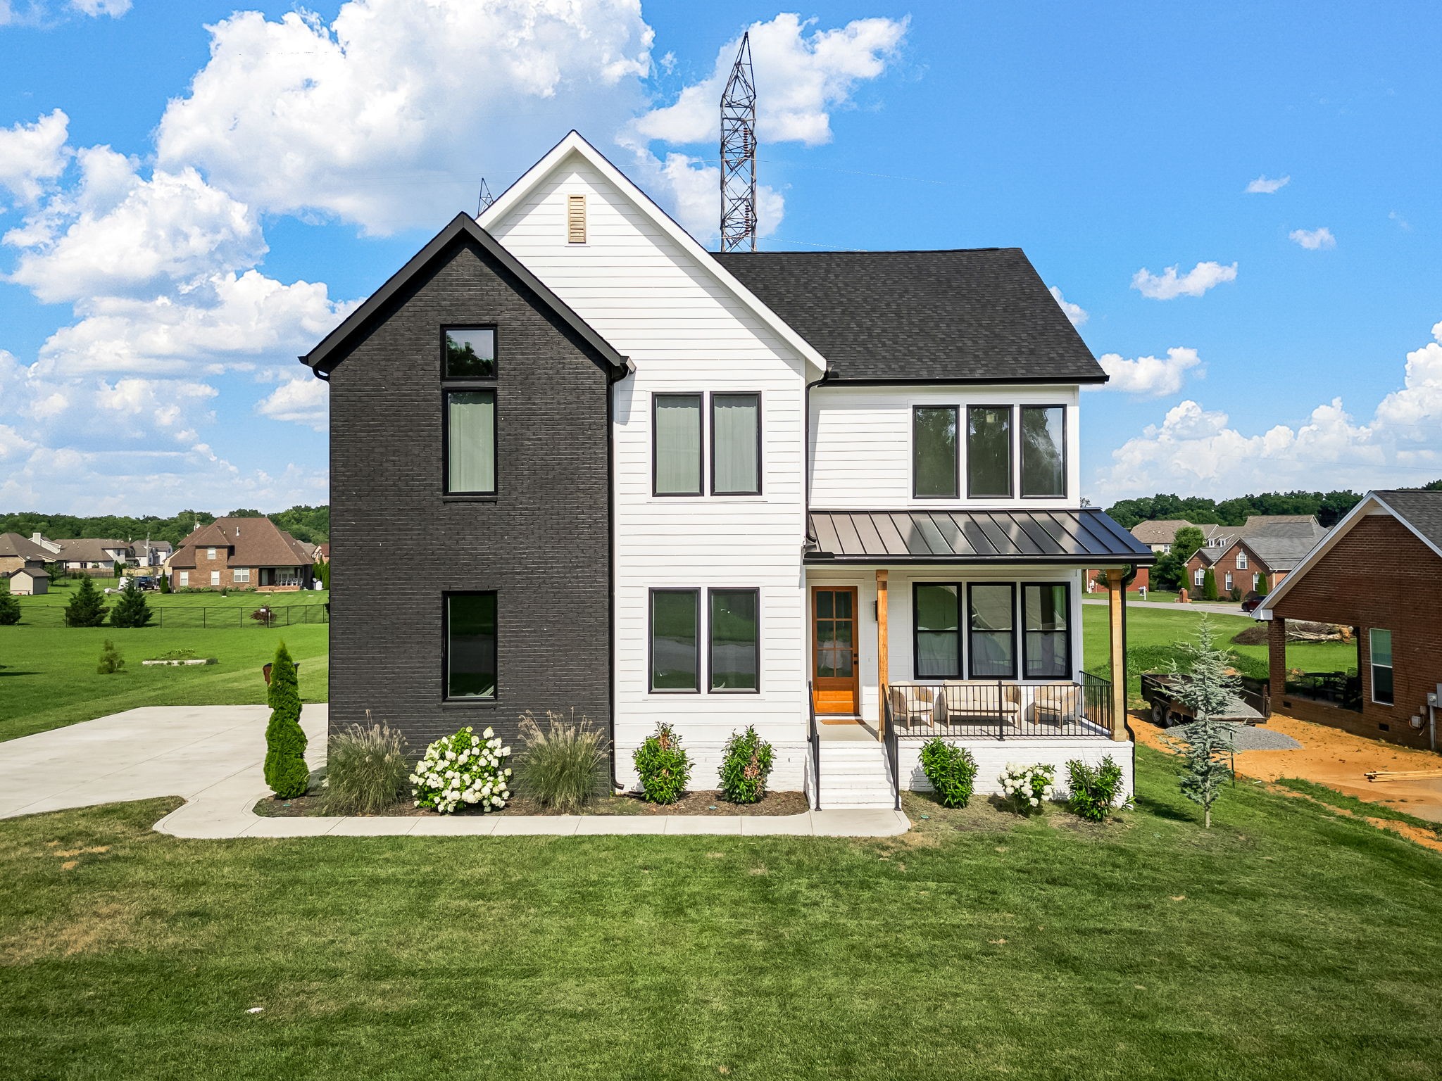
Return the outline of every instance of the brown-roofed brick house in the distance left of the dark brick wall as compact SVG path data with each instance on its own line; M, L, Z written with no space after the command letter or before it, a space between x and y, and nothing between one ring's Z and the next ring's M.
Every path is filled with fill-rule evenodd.
M218 517L170 556L170 588L303 590L311 582L304 546L268 517Z

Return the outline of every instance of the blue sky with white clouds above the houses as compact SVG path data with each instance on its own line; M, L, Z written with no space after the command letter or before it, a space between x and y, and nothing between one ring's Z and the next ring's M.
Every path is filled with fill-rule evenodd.
M748 26L763 246L1025 248L1093 500L1442 476L1429 4L499 7L0 0L0 506L324 500L296 353L571 127L704 233Z

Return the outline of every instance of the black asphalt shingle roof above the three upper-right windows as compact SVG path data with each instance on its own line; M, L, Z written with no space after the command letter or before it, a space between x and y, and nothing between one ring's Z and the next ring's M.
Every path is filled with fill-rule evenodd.
M715 257L839 382L1103 382L1021 248Z

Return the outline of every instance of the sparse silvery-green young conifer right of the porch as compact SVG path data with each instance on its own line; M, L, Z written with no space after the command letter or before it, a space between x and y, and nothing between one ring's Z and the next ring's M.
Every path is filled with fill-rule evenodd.
M1174 662L1174 693L1197 719L1181 729L1181 741L1167 742L1182 760L1181 794L1201 804L1203 824L1211 829L1211 804L1233 775L1231 758L1236 754L1231 729L1216 718L1236 708L1242 680L1230 670L1227 651L1217 649L1211 621L1206 615L1197 627L1197 644L1180 643L1180 649L1191 657L1191 677L1181 676Z

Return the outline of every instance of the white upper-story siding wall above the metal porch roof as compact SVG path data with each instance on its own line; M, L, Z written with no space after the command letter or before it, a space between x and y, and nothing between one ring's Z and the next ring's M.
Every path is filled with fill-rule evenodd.
M845 386L812 391L812 494L822 510L901 507L1076 507L1082 502L1079 391L1070 386ZM911 408L959 405L960 499L913 499ZM1063 499L966 499L968 405L1064 405L1067 494ZM1019 467L1019 421L1012 421L1012 471ZM1014 484L1015 487L1015 484Z

